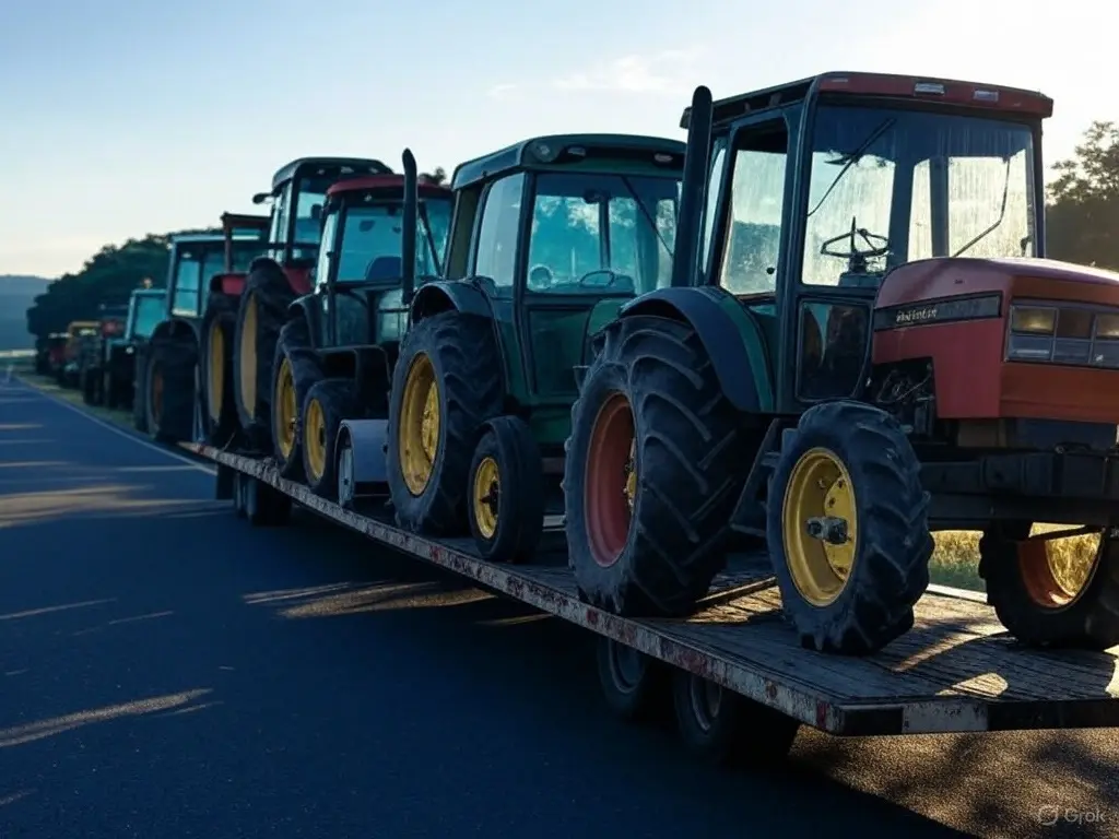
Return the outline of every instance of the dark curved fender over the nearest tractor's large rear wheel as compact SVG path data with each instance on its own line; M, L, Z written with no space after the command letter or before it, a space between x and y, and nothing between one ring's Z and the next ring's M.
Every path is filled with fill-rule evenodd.
M658 289L621 308L639 314L686 321L699 336L726 398L739 411L773 413L773 384L761 327L733 294L714 286Z

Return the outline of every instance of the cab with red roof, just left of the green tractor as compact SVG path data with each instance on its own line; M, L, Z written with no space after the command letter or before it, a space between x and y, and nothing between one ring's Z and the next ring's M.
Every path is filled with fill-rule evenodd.
M412 276L439 276L452 192L420 181L416 197ZM404 176L354 178L327 190L314 289L322 313L316 319L321 349L379 346L391 350L392 364L407 323L402 258L408 247L406 215Z

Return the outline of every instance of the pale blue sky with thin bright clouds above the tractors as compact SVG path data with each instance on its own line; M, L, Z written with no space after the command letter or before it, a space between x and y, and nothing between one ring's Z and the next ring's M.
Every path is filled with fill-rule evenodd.
M450 170L553 131L683 136L699 83L717 97L866 69L1042 89L1050 162L1119 120L1104 0L1065 0L1061 20L995 0L3 6L0 274L252 210L300 155L397 168L410 145Z

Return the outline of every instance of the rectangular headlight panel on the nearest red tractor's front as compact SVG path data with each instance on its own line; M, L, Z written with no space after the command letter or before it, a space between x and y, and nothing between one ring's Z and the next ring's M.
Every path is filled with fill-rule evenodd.
M1119 368L1119 311L1045 302L1012 304L1006 358Z

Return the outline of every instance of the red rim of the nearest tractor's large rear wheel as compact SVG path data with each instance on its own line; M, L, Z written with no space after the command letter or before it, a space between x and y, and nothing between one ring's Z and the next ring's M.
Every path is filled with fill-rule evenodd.
M620 393L610 396L591 430L586 453L584 516L591 556L604 568L618 562L629 539L627 465L633 443L633 412Z

